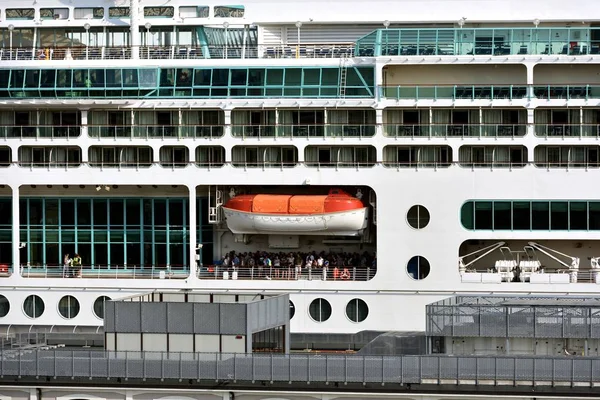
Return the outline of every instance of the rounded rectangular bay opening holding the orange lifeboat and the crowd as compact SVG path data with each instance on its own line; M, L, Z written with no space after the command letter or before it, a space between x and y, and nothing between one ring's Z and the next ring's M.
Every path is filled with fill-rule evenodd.
M198 275L369 280L377 268L375 216L375 192L366 186L209 187L213 259L198 260Z

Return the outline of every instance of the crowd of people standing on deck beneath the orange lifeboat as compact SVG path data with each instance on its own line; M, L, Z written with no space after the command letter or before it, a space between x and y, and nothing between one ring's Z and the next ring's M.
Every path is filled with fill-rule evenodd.
M245 252L231 251L215 265L220 271L237 272L254 279L299 279L321 275L323 279L367 280L375 275L374 253L349 252ZM208 272L215 272L209 268Z

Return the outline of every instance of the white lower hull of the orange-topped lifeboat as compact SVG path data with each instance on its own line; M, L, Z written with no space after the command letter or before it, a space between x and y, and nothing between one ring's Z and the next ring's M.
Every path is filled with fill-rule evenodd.
M367 227L368 208L312 215L257 214L223 208L235 234L358 236Z

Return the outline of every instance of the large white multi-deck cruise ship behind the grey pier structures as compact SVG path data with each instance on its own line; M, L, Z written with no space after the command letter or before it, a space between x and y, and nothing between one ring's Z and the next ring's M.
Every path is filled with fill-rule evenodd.
M0 335L152 290L290 293L306 334L597 293L597 10L2 1Z

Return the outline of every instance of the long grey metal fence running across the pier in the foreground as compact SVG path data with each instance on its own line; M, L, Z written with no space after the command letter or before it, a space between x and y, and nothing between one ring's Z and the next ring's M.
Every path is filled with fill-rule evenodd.
M1 378L593 386L600 358L4 351Z

